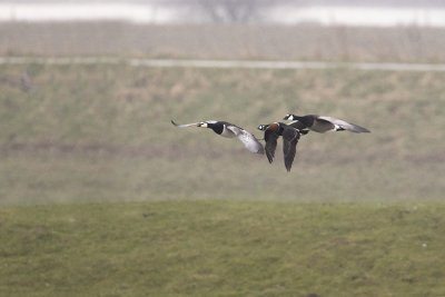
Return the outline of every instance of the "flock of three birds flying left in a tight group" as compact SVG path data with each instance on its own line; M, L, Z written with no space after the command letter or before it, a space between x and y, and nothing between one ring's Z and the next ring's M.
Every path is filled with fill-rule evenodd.
M284 123L277 121L268 125L258 126L258 129L264 131L264 140L266 141L265 147L263 147L263 145L254 135L227 121L207 120L178 125L174 120L171 120L171 123L178 128L192 126L209 128L214 130L217 135L220 135L222 137L237 137L251 152L263 155L266 150L266 156L270 164L273 162L275 157L277 140L281 136L285 167L287 171L290 171L300 136L307 135L309 130L319 133L324 133L327 131L350 131L355 133L369 132L369 130L366 128L333 117L317 115L307 115L300 117L295 115L286 115L283 119L290 120L291 122Z

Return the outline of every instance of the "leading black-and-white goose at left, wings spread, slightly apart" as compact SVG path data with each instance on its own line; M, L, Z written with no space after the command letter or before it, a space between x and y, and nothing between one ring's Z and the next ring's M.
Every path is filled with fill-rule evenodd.
M220 135L222 137L227 138L234 138L238 137L239 140L243 141L244 146L250 150L251 152L255 154L264 154L264 148L263 145L255 138L254 135L249 133L245 129L233 125L227 121L216 121L216 120L207 120L207 121L200 121L200 122L192 122L192 123L184 123L184 125L178 125L174 120L171 120L171 123L175 127L178 128L186 128L186 127L201 127L201 128L209 128L214 130L217 135Z

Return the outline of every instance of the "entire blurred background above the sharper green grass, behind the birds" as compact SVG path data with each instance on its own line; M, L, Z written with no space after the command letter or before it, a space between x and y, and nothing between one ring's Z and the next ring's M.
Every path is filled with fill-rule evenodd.
M442 200L444 24L438 0L1 0L0 204ZM372 133L312 132L287 174L280 142L269 165L170 123L289 112Z

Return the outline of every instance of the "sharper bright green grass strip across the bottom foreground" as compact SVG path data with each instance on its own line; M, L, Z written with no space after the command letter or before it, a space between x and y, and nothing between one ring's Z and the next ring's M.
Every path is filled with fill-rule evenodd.
M2 296L443 296L441 204L0 209Z

